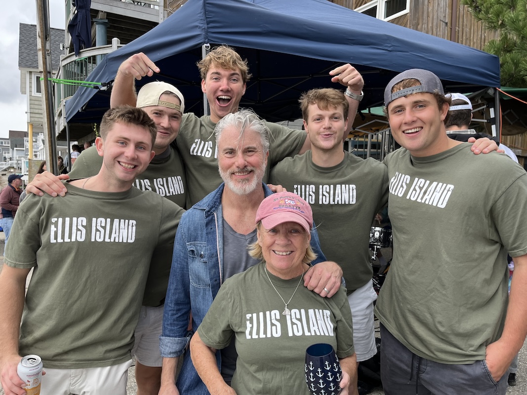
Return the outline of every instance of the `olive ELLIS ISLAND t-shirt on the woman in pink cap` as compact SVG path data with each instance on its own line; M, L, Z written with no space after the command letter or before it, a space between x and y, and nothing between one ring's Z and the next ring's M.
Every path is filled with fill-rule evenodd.
M198 332L215 349L225 348L233 337L238 359L231 386L236 393L308 395L305 360L311 344L331 344L338 358L355 353L346 291L341 287L332 298L321 298L304 284L295 292L300 277L268 275L261 263L227 279ZM292 295L289 317L282 314L285 305L277 291L286 301Z

